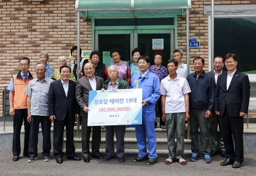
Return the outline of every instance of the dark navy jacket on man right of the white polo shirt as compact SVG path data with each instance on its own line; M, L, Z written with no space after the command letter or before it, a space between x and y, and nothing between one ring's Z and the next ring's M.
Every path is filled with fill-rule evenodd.
M187 77L191 92L188 93L189 107L196 109L214 110L214 83L212 76L203 72L196 76L196 72Z

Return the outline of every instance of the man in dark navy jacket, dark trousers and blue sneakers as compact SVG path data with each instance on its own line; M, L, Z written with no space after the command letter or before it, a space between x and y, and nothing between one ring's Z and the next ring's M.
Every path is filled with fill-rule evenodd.
M193 60L193 64L196 72L187 76L188 84L191 88L191 92L188 94L191 126L191 150L193 152L190 161L197 161L201 159L198 147L199 127L204 162L211 163L212 159L210 157L211 146L208 124L210 116L212 116L214 106L214 84L212 76L206 74L203 70L203 58L196 57Z

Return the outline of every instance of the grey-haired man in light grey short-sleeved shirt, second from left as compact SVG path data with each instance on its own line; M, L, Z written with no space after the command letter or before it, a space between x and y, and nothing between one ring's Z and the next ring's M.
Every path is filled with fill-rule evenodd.
M48 92L52 79L44 76L46 65L44 62L35 64L37 78L28 83L26 90L28 106L28 122L30 123L30 136L28 144L28 162L34 162L37 159L37 144L39 123L41 122L43 134L43 152L44 161L50 161L49 154L51 150L51 121L48 111Z

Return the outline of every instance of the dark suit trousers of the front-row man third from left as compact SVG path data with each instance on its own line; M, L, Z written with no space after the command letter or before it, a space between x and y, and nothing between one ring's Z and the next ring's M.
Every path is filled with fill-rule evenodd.
M53 124L53 155L54 158L63 158L62 145L63 145L63 133L64 126L66 126L66 155L74 158L75 146L74 146L74 122L75 120L70 120L68 112L64 120L54 120Z

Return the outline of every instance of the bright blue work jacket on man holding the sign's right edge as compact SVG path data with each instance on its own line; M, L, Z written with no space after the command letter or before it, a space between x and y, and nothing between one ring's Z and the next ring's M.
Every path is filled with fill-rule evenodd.
M147 100L147 103L142 106L142 110L154 110L160 97L160 80L158 76L148 70L147 74L142 78L140 72L132 77L131 83L131 89L142 88L142 100Z

